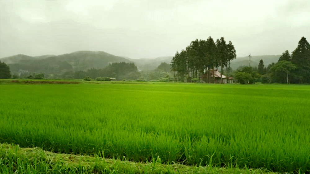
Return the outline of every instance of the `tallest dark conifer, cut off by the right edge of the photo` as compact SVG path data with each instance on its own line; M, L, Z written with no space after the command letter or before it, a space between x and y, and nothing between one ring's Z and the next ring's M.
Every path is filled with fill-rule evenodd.
M310 83L310 45L302 37L292 53L292 63L297 66L294 71L295 83Z

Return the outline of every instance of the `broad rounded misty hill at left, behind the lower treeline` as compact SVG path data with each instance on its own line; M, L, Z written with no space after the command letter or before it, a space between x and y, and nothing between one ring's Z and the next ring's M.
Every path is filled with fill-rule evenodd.
M113 62L131 62L123 57L114 56L103 51L77 51L58 56L43 55L38 57L15 55L4 57L0 60L7 63L12 72L24 70L46 74L87 70L91 68L102 69Z

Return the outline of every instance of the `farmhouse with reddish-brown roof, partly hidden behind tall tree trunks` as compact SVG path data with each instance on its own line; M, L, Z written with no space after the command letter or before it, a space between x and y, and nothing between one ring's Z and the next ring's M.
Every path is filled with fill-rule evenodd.
M228 77L227 82L227 76L221 74L218 70L209 70L205 74L202 74L200 76L202 81L209 82L209 83L221 83L221 78L223 80L223 83L232 83L233 78Z

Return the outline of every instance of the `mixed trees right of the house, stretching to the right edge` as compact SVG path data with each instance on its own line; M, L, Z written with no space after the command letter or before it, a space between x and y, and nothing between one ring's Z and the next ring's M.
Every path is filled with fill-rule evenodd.
M257 68L241 67L233 76L241 84L310 83L310 45L306 38L302 37L292 54L286 50L277 63L272 62L265 67L263 60L260 60Z

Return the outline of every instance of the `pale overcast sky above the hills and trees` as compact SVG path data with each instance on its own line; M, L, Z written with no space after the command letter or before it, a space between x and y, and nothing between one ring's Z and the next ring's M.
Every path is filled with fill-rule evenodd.
M0 57L81 50L174 56L192 40L232 41L237 57L310 42L310 1L0 0Z

